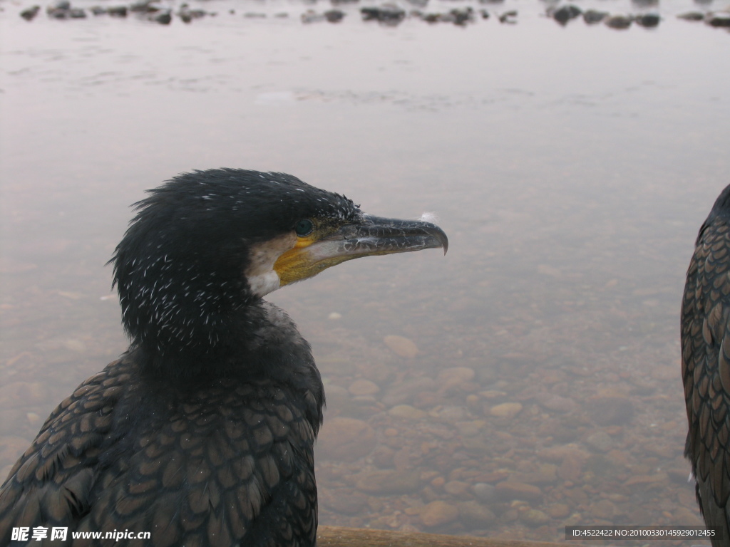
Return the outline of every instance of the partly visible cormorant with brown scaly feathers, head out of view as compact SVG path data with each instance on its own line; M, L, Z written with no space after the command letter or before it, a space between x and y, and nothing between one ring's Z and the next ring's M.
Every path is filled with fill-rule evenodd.
M704 221L682 301L682 376L689 432L685 457L707 527L730 546L730 186Z

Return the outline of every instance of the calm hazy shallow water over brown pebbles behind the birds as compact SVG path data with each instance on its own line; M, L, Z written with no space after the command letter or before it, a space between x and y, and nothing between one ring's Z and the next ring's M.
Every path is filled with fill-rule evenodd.
M446 257L353 261L271 295L326 381L320 522L544 540L699 523L678 312L730 182L730 34L675 19L697 6L613 31L558 26L537 0L485 4L516 25L465 28L353 5L300 22L323 2L209 0L219 15L189 26L26 23L28 5L0 3L1 474L126 347L104 263L128 204L235 166L373 214L436 212L450 238Z

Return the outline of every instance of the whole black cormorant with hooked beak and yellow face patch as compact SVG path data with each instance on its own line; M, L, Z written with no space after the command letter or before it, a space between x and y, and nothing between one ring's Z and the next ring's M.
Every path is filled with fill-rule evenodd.
M110 260L131 346L12 468L0 545L315 545L323 384L307 341L262 298L345 260L445 252L445 233L242 169L175 176L136 208Z

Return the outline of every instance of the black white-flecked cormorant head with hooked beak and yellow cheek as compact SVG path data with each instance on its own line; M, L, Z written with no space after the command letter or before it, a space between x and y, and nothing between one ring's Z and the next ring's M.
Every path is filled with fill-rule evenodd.
M110 262L128 335L158 354L215 352L248 306L345 260L448 245L287 174L193 171L148 193Z

